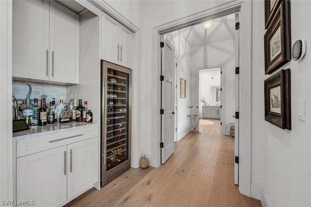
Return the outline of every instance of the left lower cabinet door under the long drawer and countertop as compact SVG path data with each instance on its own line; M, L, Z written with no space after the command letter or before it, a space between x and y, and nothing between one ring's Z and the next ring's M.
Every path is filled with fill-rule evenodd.
M17 158L17 201L59 206L66 196L66 146Z

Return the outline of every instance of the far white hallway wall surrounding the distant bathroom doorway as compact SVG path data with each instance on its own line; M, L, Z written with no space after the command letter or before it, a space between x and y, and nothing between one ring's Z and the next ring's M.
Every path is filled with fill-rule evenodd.
M235 52L234 39L216 42L208 45L191 48L191 91L198 92L195 88L195 70L198 67L211 67L223 65L223 75L225 76L224 88L222 91L223 99L225 99L225 106L222 112L225 113L225 135L229 135L229 123L234 123L235 114L235 94L234 94L234 80L235 80ZM198 81L198 80L197 80ZM195 101L195 94L192 93L191 100ZM223 103L222 103L223 104Z

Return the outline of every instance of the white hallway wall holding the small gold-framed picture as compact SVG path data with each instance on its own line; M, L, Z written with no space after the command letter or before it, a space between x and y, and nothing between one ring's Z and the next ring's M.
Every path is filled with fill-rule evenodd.
M179 31L175 31L169 34L166 34L167 38L173 44L175 49L175 54L178 56L178 80L183 78L186 80L186 98L180 98L178 95L178 125L177 125L177 141L183 138L190 131L190 122L188 115L190 114L189 105L192 104L190 100L190 86L192 84L190 79L190 46L186 42L185 38L180 35ZM176 90L179 92L180 83L178 81ZM178 93L179 94L179 93ZM190 104L189 104L190 103ZM192 108L193 110L193 108Z

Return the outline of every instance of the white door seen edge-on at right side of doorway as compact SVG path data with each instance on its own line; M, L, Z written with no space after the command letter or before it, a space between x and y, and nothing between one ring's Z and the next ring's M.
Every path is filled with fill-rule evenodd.
M235 15L235 22L239 22L239 13ZM239 30L235 31L235 67L239 67ZM235 75L235 111L239 112L239 74ZM235 117L234 156L239 157L239 119ZM235 159L235 157L233 157ZM236 160L235 160L236 161ZM234 163L234 184L239 185L239 163Z

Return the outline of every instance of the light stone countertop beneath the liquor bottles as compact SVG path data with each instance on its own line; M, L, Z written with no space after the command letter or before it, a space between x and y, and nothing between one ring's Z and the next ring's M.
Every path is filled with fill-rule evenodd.
M24 138L33 138L37 136L43 136L43 135L50 135L58 132L66 132L70 130L75 130L75 129L81 129L81 128L86 128L90 127L92 125L98 125L96 122L76 122L72 121L69 123L52 123L52 124L47 124L45 126L29 126L30 129L24 130L21 132L15 132L13 133L13 141L19 140L19 139L24 139Z

